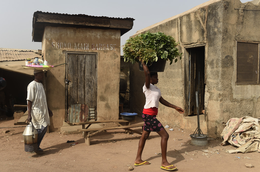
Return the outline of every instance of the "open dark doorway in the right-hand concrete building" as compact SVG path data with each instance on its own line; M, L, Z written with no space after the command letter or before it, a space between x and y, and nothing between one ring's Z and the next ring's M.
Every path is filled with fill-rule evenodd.
M199 99L199 114L204 110L205 93L205 47L186 49L189 53L188 116L197 115L196 91Z

